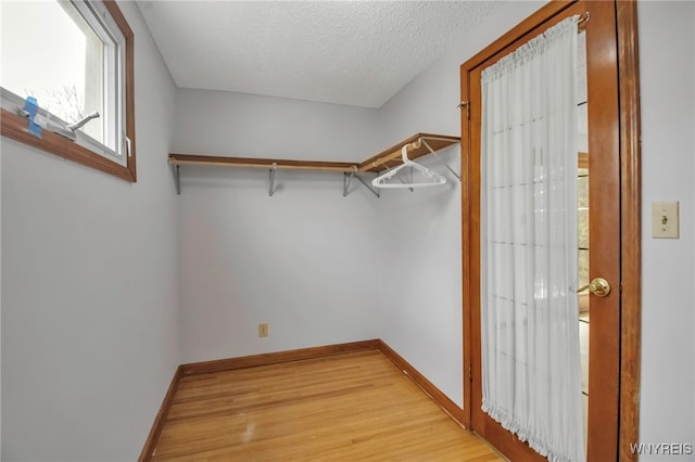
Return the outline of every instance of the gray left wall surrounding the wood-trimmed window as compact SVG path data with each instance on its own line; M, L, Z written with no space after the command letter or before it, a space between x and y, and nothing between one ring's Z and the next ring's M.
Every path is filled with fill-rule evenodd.
M2 138L2 460L136 460L176 367L175 86L135 3L137 184Z

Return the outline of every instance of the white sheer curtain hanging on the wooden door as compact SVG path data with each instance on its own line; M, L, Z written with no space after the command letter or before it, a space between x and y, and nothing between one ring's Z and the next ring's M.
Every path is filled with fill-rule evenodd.
M482 73L482 407L551 461L584 460L577 20Z

